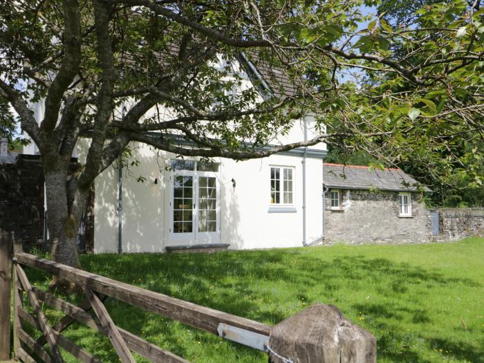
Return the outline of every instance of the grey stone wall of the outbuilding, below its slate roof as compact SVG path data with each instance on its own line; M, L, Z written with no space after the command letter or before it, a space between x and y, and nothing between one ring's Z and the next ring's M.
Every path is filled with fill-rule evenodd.
M429 211L412 194L411 217L399 216L398 192L342 189L342 210L331 210L325 194L324 239L327 243L425 243L431 240Z

